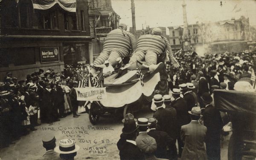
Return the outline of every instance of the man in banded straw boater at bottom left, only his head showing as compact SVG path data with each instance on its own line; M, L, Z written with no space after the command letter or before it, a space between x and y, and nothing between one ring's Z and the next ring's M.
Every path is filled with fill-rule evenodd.
M74 140L64 139L60 140L59 145L54 148L54 151L60 154L61 159L74 160L79 149L79 145L76 145Z

